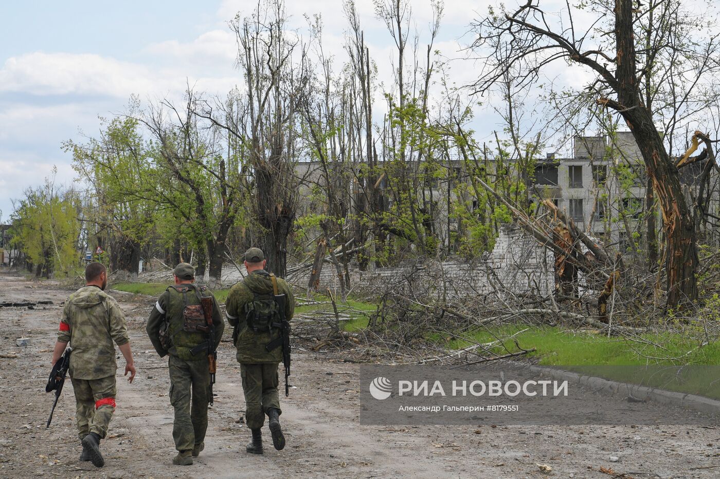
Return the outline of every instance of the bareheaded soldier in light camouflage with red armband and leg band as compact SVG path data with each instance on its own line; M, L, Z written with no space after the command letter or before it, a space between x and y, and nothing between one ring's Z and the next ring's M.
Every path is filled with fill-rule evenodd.
M100 263L85 268L86 286L72 293L65 302L60 319L58 341L53 351L53 365L70 343L70 378L76 401L78 436L83 445L81 461L92 461L102 467L105 461L100 453L100 439L115 411L115 348L125 357L125 375L132 383L135 365L127 336L125 316L117 301L104 292L107 271Z

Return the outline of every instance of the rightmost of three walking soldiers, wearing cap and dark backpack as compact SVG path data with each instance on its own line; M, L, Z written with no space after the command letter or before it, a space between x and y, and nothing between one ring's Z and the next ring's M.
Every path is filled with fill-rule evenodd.
M274 290L285 294L285 319L292 318L294 298L289 286L282 278L276 278L264 268L266 260L258 248L250 248L244 257L248 275L235 284L228 293L226 315L235 327L233 342L238 350L240 376L245 393L246 421L253 438L246 447L247 452L263 453L261 428L268 415L268 425L276 450L285 447L285 438L280 428L280 400L277 393L277 368L282 361L282 347L268 351L266 345L279 337L277 303ZM276 288L274 288L276 286Z

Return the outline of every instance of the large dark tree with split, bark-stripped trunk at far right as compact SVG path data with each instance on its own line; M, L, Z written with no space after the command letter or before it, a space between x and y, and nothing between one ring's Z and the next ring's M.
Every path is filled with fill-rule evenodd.
M586 92L600 106L624 119L654 186L664 220L667 304L675 306L697 297L696 229L680 186L678 168L668 153L670 146L665 145L657 128L657 105L647 104L647 95L643 96L644 82L657 81L647 70L645 59L650 55L651 63L655 64L672 55L690 53L694 58L704 58L705 61L687 65L696 81L709 78L720 65L712 58L718 42L714 32L695 45L688 45L668 41L673 32L667 29L665 36L653 37L657 41L652 41L649 49L642 43L643 35L639 32L642 22L669 2L678 0L654 1L647 9L636 8L631 0L592 1L588 9L595 14L595 21L583 29L574 21L575 7L568 6L562 18L553 18L541 9L538 0L528 0L516 12L490 12L475 24L478 36L473 47L477 51L490 50L486 55L487 68L474 83L478 92L487 91L513 70L518 72L521 84L534 83L548 65L557 61L569 62L594 74ZM659 22L651 22L650 28L660 28Z

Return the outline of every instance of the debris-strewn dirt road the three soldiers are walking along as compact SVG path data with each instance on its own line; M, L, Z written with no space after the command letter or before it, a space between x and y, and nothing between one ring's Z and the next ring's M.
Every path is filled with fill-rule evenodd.
M118 295L127 316L138 377L118 377L117 411L102 443L106 465L79 462L74 398L68 381L53 425L45 429L52 397L45 391L60 308L70 291L30 283L0 270L0 303L53 304L0 308L0 477L2 478L625 478L720 477L720 429L685 426L362 426L358 366L323 355L294 355L289 398L282 398L288 446L266 444L248 455L250 432L240 370L232 346L218 352L215 406L201 457L171 465L173 411L167 362L145 337L154 300ZM229 328L228 328L229 329ZM19 337L30 345L18 347ZM124 364L122 359L118 364ZM121 368L122 370L122 368ZM266 434L267 435L267 434ZM268 438L269 439L269 438ZM268 441L269 442L269 441ZM610 462L610 456L619 457ZM547 476L538 464L552 467Z

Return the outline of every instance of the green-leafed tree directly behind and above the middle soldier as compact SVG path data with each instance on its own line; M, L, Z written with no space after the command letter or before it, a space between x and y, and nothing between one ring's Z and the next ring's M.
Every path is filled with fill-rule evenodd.
M250 186L246 145L200 116L206 106L188 90L183 109L163 101L141 118L151 137L148 187L160 217L158 231L167 240L174 232L186 239L197 255L196 275L202 278L207 268L210 283L217 284L230 229L246 219ZM232 99L225 104L226 121L244 114L236 106Z

